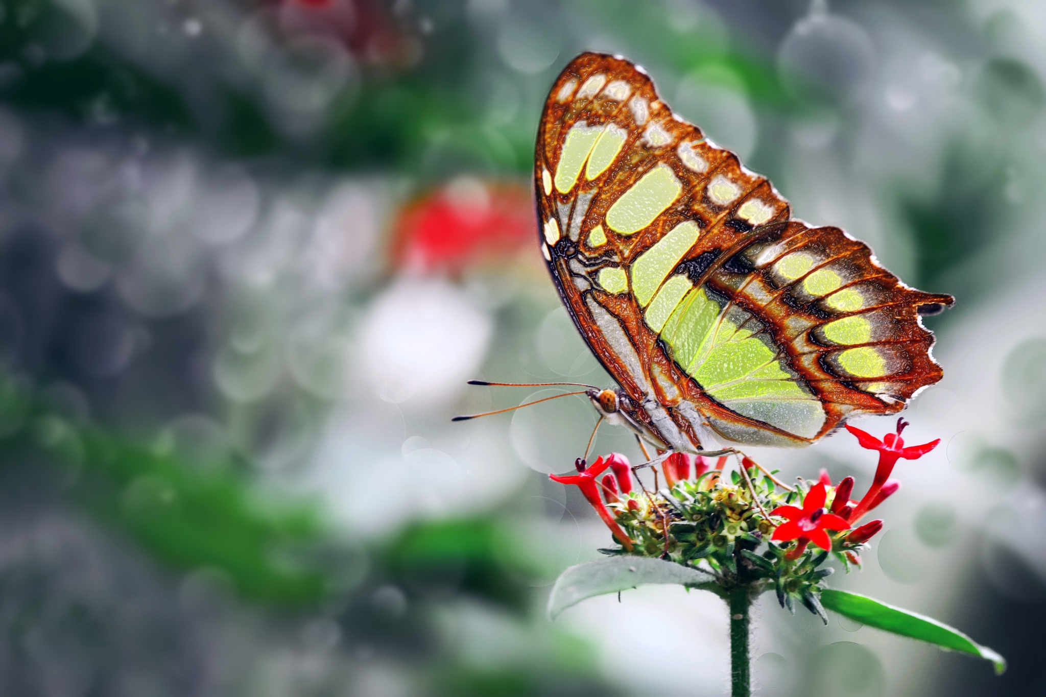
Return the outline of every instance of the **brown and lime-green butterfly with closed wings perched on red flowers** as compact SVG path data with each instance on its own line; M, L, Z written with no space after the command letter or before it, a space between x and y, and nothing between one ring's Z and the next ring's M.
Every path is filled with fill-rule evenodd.
M673 113L639 67L583 53L538 130L541 251L619 390L596 409L662 449L799 446L940 379L911 288Z

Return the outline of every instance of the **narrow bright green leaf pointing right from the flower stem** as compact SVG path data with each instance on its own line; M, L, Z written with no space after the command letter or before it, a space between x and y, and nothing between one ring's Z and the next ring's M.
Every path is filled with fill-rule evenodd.
M975 643L958 629L917 612L903 610L867 596L832 588L821 591L821 604L869 627L936 644L946 650L962 651L986 658L995 665L996 675L1001 675L1006 670L1005 658L992 649Z

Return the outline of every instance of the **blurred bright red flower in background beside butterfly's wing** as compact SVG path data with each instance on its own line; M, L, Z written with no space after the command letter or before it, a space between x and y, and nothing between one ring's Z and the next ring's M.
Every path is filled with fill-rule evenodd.
M460 177L403 210L392 257L409 270L459 272L532 245L535 230L533 205L523 187Z

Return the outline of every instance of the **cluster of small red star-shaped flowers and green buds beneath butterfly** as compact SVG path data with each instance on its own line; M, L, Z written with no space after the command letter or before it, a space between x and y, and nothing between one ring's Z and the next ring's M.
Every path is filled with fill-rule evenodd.
M605 554L700 565L725 588L772 585L782 606L793 609L797 599L823 619L818 598L833 570L821 565L829 555L846 571L860 565L859 551L883 528L882 520L861 518L900 488L890 479L897 461L918 459L939 443L905 447L901 434L907 425L899 419L896 433L882 440L846 426L862 447L879 452L871 486L856 502L852 477L834 486L822 470L817 482L800 480L793 489L776 472L760 473L747 457L727 474L725 456L710 461L673 452L660 471L655 468L653 491L619 454L591 465L578 459L577 474L550 477L576 485L610 528L619 547Z

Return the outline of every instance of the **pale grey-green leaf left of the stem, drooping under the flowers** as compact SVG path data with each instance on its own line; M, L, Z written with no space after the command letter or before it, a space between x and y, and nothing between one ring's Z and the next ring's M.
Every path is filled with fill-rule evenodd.
M548 617L554 620L586 598L646 583L678 583L697 588L713 581L711 574L661 559L616 557L588 561L560 574L548 597Z

